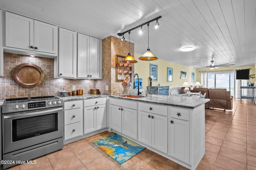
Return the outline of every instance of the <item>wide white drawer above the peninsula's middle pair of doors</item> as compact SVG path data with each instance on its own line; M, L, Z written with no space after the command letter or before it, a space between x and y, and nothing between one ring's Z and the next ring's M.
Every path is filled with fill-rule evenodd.
M139 110L147 111L150 113L155 113L163 116L168 115L167 106L160 106L160 105L148 104L148 103L139 103Z

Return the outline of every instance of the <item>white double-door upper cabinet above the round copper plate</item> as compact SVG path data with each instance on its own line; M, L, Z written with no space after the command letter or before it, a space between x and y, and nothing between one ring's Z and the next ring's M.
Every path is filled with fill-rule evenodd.
M57 53L58 27L6 12L5 46Z

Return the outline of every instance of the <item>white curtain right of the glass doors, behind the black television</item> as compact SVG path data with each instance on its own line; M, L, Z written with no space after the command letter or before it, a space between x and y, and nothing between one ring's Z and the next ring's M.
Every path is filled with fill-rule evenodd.
M241 96L241 89L240 86L247 86L248 80L236 80L236 70L234 70L234 98L235 99L240 99ZM242 94L247 95L248 90L246 88L242 89Z

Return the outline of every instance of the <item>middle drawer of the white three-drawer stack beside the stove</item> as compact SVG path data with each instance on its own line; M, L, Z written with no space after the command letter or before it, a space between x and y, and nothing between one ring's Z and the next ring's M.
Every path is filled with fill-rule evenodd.
M64 111L64 125L80 122L82 120L82 108Z

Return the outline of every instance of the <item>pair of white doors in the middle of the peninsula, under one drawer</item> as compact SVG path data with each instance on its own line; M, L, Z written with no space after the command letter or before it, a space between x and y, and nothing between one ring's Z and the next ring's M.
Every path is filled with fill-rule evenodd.
M141 110L138 115L138 141L167 153L167 116Z

